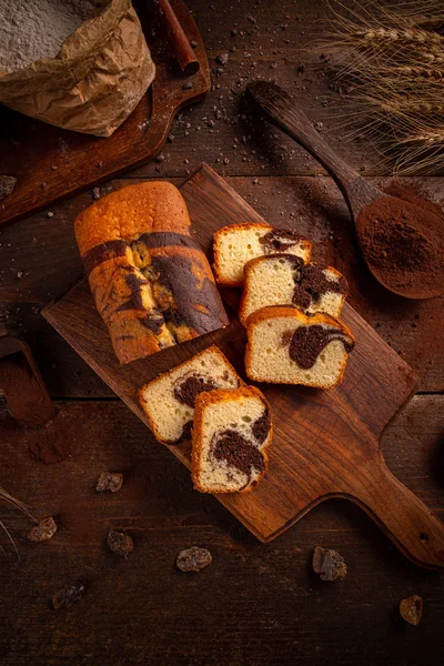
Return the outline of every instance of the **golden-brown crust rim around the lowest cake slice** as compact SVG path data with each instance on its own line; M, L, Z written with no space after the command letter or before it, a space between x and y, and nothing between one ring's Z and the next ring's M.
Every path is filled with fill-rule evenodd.
M270 431L264 444L261 446L261 453L264 458L264 467L260 474L260 476L249 484L245 488L241 491L234 491L236 493L250 493L263 478L266 470L269 468L269 454L266 448L273 441L273 420L271 417L271 408L269 401L264 396L264 394L256 389L255 386L241 386L240 389L216 389L214 391L209 391L206 393L201 393L198 395L195 400L194 407L194 422L193 422L193 431L192 431L192 451L191 451L191 478L193 482L193 486L200 493L212 493L212 494L226 494L233 491L228 491L225 488L221 488L219 491L209 490L206 486L202 485L199 481L200 473L200 462L202 454L202 437L203 437L203 416L204 411L208 406L212 404L219 404L223 401L232 401L234 396L254 396L259 397L264 405L264 408L270 414Z

